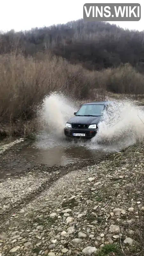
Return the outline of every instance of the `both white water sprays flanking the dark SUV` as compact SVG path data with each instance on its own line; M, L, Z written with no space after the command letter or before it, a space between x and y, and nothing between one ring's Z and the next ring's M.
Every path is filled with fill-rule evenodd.
M53 92L44 98L38 113L44 130L63 139L63 128L77 110L78 106L67 96ZM98 125L98 133L87 143L89 148L101 145L120 149L144 139L144 111L130 100L117 102Z

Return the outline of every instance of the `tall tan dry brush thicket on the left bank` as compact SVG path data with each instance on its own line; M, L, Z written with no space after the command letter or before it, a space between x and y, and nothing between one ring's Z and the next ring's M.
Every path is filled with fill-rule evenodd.
M52 91L63 91L77 98L87 94L81 66L50 55L37 59L15 54L0 56L0 133L1 136L32 132L29 123L36 117L36 108ZM84 86L85 82L85 86ZM34 122L33 122L34 123ZM31 127L32 126L32 127Z

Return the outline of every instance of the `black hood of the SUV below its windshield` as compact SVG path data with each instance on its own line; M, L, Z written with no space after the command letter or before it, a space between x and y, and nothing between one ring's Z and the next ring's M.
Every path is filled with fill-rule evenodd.
M74 116L67 123L69 124L98 124L101 116Z

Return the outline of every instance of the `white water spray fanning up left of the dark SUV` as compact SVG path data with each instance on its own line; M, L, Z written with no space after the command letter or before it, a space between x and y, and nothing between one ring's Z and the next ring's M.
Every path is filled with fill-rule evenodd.
M61 138L67 120L75 111L76 106L64 94L53 92L44 98L38 116L44 130Z

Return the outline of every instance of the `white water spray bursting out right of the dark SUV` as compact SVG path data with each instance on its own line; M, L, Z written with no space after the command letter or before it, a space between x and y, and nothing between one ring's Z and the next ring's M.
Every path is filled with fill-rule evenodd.
M117 102L104 113L92 144L125 148L144 139L144 111L130 100Z

